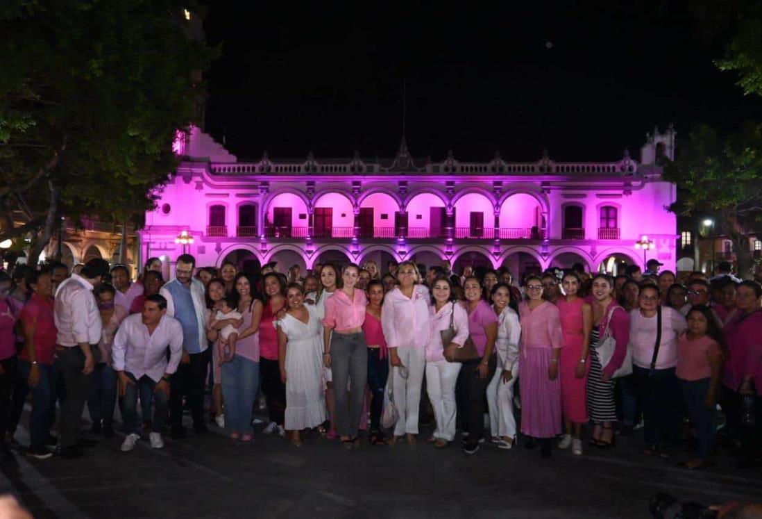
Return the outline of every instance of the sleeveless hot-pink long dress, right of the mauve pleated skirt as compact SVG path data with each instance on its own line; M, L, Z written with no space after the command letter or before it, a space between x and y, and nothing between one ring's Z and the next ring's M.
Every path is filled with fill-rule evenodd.
M577 378L577 366L582 358L584 343L584 318L582 317L584 301L576 298L571 303L565 298L558 302L561 330L564 337L564 349L561 350L559 361L559 377L561 378L561 405L564 417L575 424L588 421L588 369L585 363L584 377Z

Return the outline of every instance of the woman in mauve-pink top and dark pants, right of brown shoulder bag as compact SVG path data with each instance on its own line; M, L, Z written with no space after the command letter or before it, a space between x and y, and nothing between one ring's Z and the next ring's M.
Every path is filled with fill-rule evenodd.
M498 366L495 341L498 340L498 316L483 297L484 289L479 279L469 276L463 281L466 294L466 312L469 314L469 337L476 347L478 357L467 360L461 368L463 402L466 416L461 417L466 444L463 452L473 454L479 450L484 437L484 411L487 386ZM467 438L465 438L467 435Z

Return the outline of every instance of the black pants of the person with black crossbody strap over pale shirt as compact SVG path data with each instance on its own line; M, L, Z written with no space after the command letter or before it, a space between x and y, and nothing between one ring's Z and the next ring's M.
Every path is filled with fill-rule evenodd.
M643 406L643 433L647 445L674 446L685 414L682 392L674 368L633 366L632 374Z

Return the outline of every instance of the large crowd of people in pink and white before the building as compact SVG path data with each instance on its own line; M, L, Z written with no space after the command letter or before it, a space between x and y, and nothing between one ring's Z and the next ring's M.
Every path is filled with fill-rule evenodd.
M642 427L648 455L687 441L688 469L713 463L718 437L758 464L762 286L729 266L679 280L659 267L611 277L575 265L519 281L505 267L390 261L382 273L368 261L302 276L183 254L171 280L152 258L132 282L103 259L72 272L17 266L0 271L0 444L30 397L27 453L39 459L53 447L82 456L85 405L91 433L113 437L118 402L125 452L143 434L155 449L167 428L185 437L186 410L195 433L210 419L249 443L266 408L262 432L295 446L307 431L346 450L415 445L431 417L422 441L444 449L459 437L469 455L485 441L511 449L520 432L542 457L579 456Z

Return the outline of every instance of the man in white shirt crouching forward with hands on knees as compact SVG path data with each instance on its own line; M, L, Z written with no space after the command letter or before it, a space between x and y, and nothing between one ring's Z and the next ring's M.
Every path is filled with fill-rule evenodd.
M155 404L149 440L154 449L164 446L162 428L167 419L170 376L177 371L182 353L183 327L177 319L167 315L167 300L162 295L146 297L142 313L132 314L120 324L111 359L119 376L122 419L127 434L122 452L133 450L140 439L136 405L138 395L146 392L153 394Z

